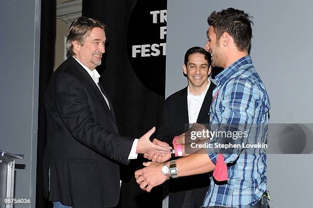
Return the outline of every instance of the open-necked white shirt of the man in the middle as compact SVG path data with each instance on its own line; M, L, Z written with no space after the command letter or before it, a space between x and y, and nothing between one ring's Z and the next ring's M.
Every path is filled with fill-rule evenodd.
M189 90L188 85L188 92L187 92L187 104L188 104L188 118L189 123L196 123L198 119L198 115L200 112L200 109L202 107L203 100L208 92L208 89L210 87L211 81L209 80L209 83L204 89L204 91L199 95L194 95ZM210 108L210 106L208 106Z

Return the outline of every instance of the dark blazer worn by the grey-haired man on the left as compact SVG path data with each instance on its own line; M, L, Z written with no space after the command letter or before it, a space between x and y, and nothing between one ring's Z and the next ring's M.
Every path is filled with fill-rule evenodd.
M117 162L128 163L134 139L118 134L112 106L109 110L91 76L72 57L54 72L44 100L44 196L74 208L115 206L120 193Z

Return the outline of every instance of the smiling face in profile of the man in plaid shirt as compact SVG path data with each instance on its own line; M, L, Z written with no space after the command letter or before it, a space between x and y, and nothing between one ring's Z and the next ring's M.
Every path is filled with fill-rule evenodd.
M208 30L208 42L205 49L211 54L212 66L223 67L223 53L212 26Z

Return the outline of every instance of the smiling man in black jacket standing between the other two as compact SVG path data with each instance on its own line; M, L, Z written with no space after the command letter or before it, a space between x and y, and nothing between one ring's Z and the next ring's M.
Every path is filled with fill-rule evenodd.
M215 85L208 79L211 56L202 47L189 48L183 65L188 86L165 100L162 125L157 138L172 143L175 136L186 132L188 123L209 123L209 110ZM149 155L152 159L153 155ZM169 158L166 158L169 159ZM164 162L160 160L158 162ZM210 174L199 174L170 180L169 207L200 207L210 185Z

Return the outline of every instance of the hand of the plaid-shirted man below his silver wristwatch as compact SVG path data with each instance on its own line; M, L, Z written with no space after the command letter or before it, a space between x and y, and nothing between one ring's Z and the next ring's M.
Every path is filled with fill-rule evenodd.
M143 165L146 167L135 172L136 181L142 190L151 192L153 187L163 184L168 179L168 176L162 173L161 163L147 162Z

